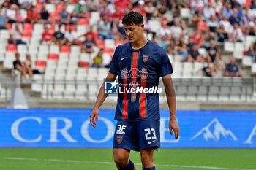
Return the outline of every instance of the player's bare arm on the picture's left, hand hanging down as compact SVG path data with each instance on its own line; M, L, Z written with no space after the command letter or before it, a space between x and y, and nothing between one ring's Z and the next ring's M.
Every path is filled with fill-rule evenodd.
M114 80L116 80L116 75L109 72L105 81L114 81ZM92 109L91 115L90 115L90 122L91 122L91 125L94 126L94 128L96 127L95 120L98 121L99 107L102 105L103 101L105 101L105 98L107 98L108 96L108 94L105 93L105 81L102 83L102 86L99 88L99 93L98 93L96 102L94 104L94 109Z

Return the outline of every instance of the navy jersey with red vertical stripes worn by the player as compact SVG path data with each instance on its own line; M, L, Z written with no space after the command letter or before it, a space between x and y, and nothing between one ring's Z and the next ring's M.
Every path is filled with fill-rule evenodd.
M119 45L113 55L109 72L118 76L115 120L160 118L157 93L159 77L173 73L168 55L162 47L150 40L138 50L132 49L129 42Z

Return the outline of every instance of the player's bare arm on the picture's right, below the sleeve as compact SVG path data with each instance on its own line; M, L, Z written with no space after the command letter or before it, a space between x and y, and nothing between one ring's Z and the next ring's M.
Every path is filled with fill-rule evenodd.
M171 80L170 74L163 76L162 82L165 85L167 104L170 110L170 122L169 122L170 134L173 135L173 132L174 132L175 139L178 139L179 127L178 127L177 117L176 117L176 96L175 96L173 82Z

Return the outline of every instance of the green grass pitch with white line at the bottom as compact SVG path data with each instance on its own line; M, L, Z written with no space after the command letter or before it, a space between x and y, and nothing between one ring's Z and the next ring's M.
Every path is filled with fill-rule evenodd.
M130 158L140 170L139 152ZM157 170L256 170L256 150L159 149ZM115 170L112 149L1 148L0 170Z

